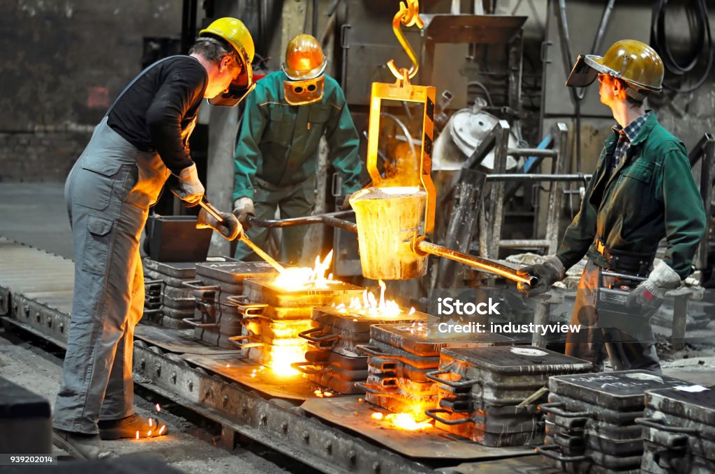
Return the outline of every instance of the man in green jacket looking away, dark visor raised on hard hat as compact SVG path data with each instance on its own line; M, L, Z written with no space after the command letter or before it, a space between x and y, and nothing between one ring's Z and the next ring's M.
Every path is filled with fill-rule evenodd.
M641 41L617 41L602 57L579 56L566 85L585 87L598 79L601 102L616 124L561 248L522 269L538 277L536 288L520 284L533 295L588 257L571 320L581 330L568 334L566 353L593 361L596 370L607 355L614 370L660 372L649 318L692 272L705 233L686 149L644 108L646 97L661 91L663 74L661 58ZM663 238L664 257L654 265Z

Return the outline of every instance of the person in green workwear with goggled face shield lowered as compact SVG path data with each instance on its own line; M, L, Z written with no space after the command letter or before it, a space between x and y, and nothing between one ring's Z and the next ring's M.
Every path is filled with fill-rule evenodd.
M342 177L342 195L360 188L358 131L326 65L317 39L299 34L287 45L282 71L261 79L246 101L235 153L234 213L258 246L265 246L267 229L250 228L247 216L270 219L276 208L281 218L312 212L322 136L330 164ZM283 229L283 261L297 263L306 231L305 226ZM236 258L256 256L239 243Z

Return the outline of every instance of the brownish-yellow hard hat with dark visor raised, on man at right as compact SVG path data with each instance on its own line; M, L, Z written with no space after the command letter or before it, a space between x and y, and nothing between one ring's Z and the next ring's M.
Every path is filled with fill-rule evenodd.
M651 46L635 39L616 41L603 57L593 54L579 56L566 85L588 86L598 73L623 79L633 89L654 92L663 89L664 67L661 57Z

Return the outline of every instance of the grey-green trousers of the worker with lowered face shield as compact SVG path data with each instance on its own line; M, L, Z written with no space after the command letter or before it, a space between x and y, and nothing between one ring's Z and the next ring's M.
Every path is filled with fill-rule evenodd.
M259 219L275 218L276 208L280 209L280 218L310 216L315 209L315 175L307 178L302 183L289 186L272 186L262 180L256 180L254 188L254 207L256 217ZM252 227L246 235L260 248L264 248L268 241L268 230L263 227ZM281 243L280 261L299 263L303 250L303 241L308 231L307 226L291 226L282 228L283 240ZM239 242L236 248L236 258L239 260L258 260L258 256Z

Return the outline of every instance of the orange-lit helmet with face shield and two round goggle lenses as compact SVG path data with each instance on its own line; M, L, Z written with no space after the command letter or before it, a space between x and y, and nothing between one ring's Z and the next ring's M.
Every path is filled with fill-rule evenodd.
M300 106L322 99L327 59L320 42L309 34L299 34L285 49L283 91L288 104Z

